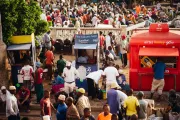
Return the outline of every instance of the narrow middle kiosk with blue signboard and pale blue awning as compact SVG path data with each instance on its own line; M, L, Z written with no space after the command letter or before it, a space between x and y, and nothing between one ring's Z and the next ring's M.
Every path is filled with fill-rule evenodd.
M90 72L97 71L98 62L98 34L76 34L75 35L75 67L80 73L80 80L76 80L78 87L87 90L87 83L84 80Z

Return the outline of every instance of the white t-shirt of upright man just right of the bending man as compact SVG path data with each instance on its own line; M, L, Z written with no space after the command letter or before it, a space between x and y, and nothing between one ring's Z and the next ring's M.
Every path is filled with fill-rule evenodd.
M106 82L116 82L116 76L119 76L118 70L113 67L109 66L104 69L103 75L106 76Z

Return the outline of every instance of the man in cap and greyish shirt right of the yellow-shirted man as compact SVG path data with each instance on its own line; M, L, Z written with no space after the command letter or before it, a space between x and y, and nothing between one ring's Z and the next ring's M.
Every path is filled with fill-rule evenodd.
M138 119L140 120L146 120L147 119L147 108L150 106L147 101L145 101L144 98L144 92L139 91L137 93L137 98L139 101L139 112L138 112Z

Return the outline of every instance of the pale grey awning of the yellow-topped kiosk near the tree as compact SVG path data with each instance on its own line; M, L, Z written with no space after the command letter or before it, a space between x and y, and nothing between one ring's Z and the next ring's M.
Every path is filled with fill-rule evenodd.
M31 44L10 45L7 50L30 50Z

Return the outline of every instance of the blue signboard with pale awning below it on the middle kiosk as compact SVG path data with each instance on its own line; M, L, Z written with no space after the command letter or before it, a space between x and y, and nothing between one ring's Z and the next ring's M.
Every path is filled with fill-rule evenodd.
M75 35L74 49L96 49L98 44L98 34Z

